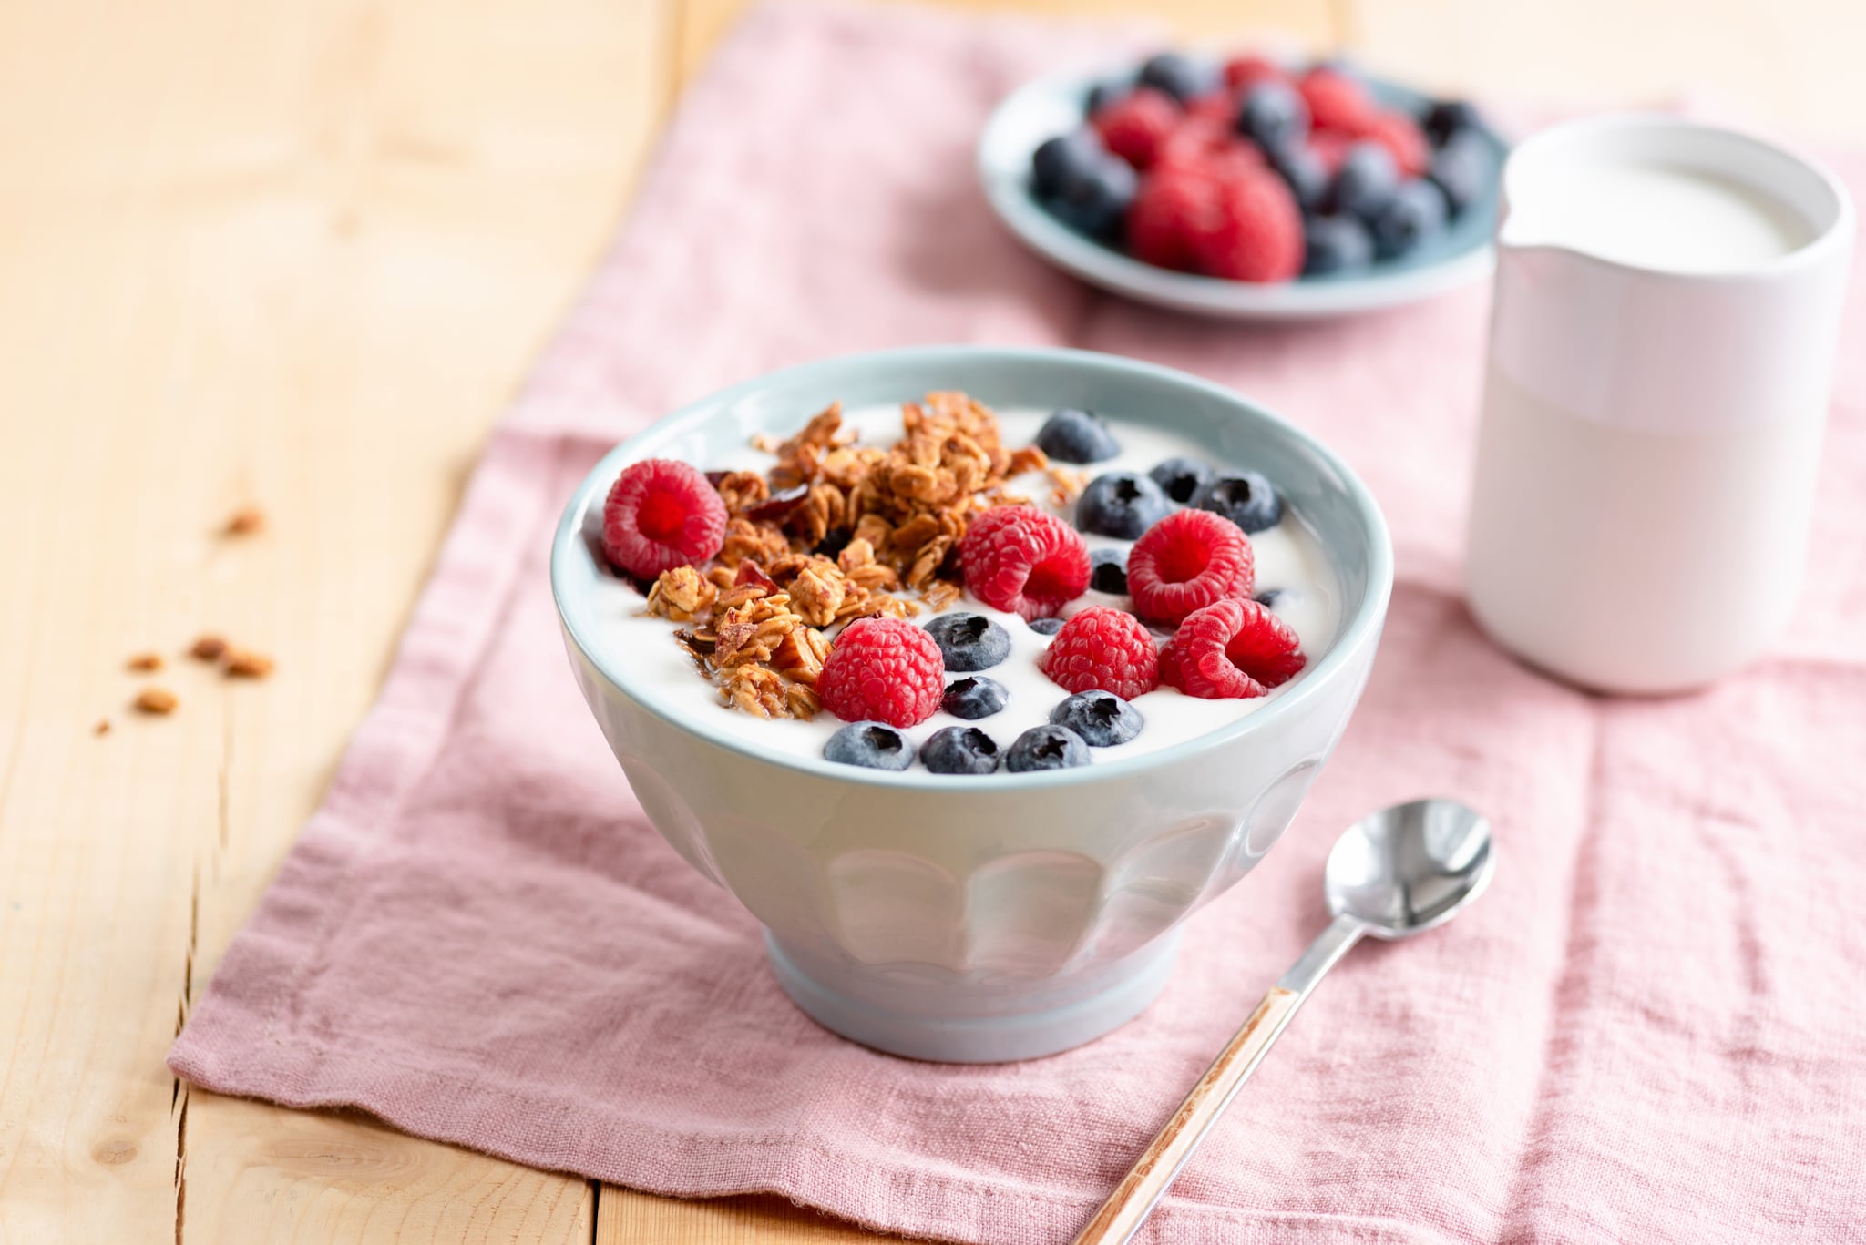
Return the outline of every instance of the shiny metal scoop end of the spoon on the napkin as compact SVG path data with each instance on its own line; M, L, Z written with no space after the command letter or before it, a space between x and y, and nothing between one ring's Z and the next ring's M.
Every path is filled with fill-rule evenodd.
M1377 939L1405 939L1450 920L1493 872L1483 814L1452 799L1416 799L1349 827L1329 851L1323 892L1334 916L1358 920Z

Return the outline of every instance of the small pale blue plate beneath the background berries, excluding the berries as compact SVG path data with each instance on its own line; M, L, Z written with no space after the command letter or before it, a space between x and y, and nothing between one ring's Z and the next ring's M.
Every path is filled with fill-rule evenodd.
M998 105L978 138L978 177L998 218L1032 250L1088 284L1194 315L1289 321L1401 306L1489 274L1491 235L1497 230L1495 179L1444 233L1413 254L1355 273L1291 282L1254 284L1174 273L1077 233L1049 215L1032 194L1030 153L1043 140L1080 127L1090 90L1116 78L1118 75L1062 75L1030 82ZM1377 78L1366 82L1386 108L1418 116L1429 106L1429 99L1418 91ZM1508 146L1491 129L1482 134L1500 170Z

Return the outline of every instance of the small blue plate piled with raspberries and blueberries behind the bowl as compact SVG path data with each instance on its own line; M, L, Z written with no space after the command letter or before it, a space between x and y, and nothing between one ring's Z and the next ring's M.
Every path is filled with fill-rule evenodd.
M1093 286L1286 321L1489 273L1506 151L1469 103L1338 63L1161 52L1023 86L978 172L1017 237Z

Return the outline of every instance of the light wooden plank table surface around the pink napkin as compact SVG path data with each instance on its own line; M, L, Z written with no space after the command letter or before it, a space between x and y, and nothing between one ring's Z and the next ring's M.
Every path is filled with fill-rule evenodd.
M162 1066L375 696L489 422L741 7L0 6L0 1243L870 1239ZM1857 0L1019 7L1274 30L1457 91L1709 84L1866 131ZM265 530L224 536L243 506ZM183 659L203 631L276 672ZM125 670L147 650L164 670ZM129 711L147 685L179 709Z

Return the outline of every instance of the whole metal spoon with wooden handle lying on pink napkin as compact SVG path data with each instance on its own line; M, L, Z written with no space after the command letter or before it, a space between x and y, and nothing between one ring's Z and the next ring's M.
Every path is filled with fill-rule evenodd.
M1153 1144L1075 1236L1075 1245L1131 1239L1323 972L1364 933L1390 941L1442 926L1483 894L1491 860L1491 823L1452 799L1394 804L1349 827L1329 851L1323 872L1334 920L1263 995Z

